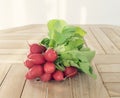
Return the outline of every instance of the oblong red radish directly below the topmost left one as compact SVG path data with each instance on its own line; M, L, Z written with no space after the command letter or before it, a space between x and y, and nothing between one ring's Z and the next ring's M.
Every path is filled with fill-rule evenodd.
M29 59L32 59L33 63L37 65L45 63L45 58L42 54L31 54Z

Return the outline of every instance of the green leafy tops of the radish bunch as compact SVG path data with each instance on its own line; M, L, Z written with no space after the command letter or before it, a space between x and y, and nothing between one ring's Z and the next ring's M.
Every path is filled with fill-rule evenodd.
M64 71L67 66L74 66L89 76L96 78L91 67L94 51L84 47L86 32L78 27L68 25L64 20L48 22L49 38L44 38L40 44L54 48L59 57L56 68Z

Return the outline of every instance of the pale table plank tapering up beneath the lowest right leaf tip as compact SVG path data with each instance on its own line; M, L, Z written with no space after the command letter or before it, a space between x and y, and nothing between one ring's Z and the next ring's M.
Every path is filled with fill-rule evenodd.
M95 64L92 65L93 65L93 70L97 74L97 79L94 80L89 77L89 98L110 98L106 88L103 85L103 82L96 69Z

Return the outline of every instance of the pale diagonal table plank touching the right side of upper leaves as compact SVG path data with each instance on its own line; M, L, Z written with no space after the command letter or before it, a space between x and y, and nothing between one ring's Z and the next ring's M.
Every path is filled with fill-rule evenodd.
M89 27L86 26L81 26L81 27L87 32L86 36L84 37L87 46L92 50L95 50L96 54L105 54L100 44L98 43L94 35L91 33Z

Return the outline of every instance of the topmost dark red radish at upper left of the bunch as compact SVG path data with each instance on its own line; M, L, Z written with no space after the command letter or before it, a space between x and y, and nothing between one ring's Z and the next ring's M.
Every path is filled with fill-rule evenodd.
M34 43L32 45L29 45L29 46L30 46L31 53L42 53L42 52L46 51L46 48L43 45L39 45L39 44Z

